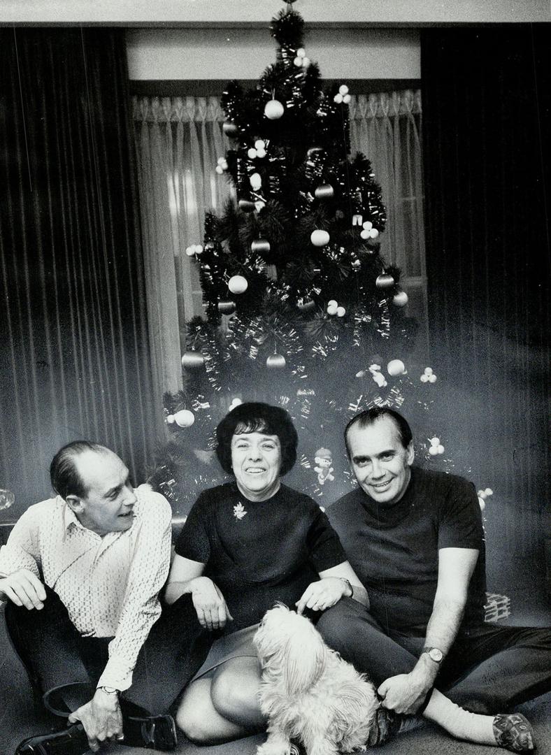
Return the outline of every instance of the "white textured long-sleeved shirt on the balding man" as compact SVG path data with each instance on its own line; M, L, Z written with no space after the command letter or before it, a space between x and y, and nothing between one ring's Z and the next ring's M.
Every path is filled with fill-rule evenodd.
M128 689L137 655L161 613L171 560L171 507L148 485L135 491L134 522L97 535L63 498L30 506L0 549L0 575L29 569L60 596L85 637L113 637L97 686Z

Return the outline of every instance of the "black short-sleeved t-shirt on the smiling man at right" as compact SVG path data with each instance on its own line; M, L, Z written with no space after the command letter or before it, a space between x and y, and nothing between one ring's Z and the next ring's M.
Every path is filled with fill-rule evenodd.
M352 569L383 627L424 636L432 613L441 548L476 548L463 627L484 620L485 547L472 482L411 468L405 494L390 507L357 488L328 509Z

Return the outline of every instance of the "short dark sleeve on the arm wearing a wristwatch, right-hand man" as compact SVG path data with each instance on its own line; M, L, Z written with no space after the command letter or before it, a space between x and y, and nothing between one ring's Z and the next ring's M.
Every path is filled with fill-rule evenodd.
M454 478L440 512L438 547L480 550L484 531L476 488Z

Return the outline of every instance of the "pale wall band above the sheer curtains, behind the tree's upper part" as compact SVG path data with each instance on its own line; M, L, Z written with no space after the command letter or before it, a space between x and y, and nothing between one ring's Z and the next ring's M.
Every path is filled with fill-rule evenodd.
M275 40L263 29L128 29L131 79L257 79L273 60ZM306 54L325 79L419 79L414 29L315 29Z

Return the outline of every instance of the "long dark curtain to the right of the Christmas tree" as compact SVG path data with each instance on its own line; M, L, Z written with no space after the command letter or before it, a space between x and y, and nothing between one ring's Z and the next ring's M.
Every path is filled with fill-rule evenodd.
M429 29L421 47L432 356L496 537L525 553L549 496L550 28Z

